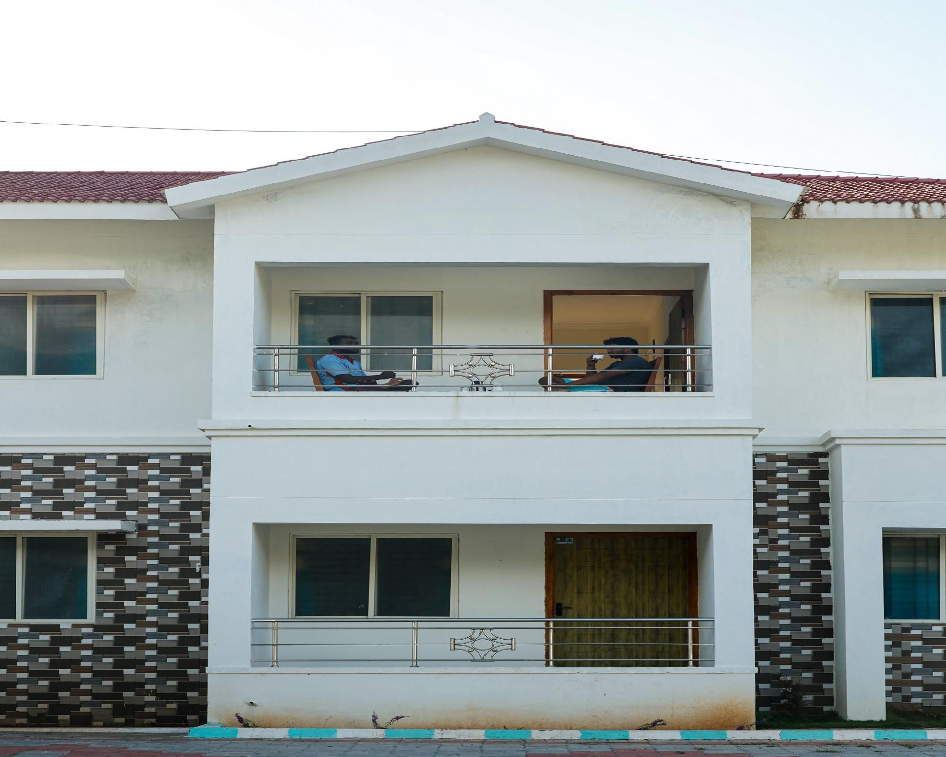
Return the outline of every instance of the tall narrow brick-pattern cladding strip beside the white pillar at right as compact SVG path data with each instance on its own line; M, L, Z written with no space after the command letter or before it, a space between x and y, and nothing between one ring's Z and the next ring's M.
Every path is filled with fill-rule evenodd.
M832 710L828 453L756 453L753 470L757 705L778 709L790 678L805 710Z

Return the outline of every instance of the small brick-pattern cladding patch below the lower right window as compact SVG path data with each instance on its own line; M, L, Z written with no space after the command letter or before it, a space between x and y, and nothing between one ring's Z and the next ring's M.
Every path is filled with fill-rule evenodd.
M887 701L946 713L946 625L888 623L884 631Z

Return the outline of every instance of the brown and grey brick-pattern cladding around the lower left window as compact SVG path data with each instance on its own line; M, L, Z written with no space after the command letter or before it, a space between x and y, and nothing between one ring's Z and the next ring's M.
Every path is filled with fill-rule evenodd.
M137 523L96 537L94 624L0 624L0 725L205 721L209 492L209 454L0 453L0 518Z

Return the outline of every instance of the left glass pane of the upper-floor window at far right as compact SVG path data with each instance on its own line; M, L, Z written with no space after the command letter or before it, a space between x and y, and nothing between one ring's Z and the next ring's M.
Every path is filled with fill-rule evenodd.
M936 376L932 297L870 298L872 376Z

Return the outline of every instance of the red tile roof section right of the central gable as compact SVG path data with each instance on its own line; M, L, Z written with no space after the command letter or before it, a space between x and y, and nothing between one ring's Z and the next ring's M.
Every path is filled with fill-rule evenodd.
M755 175L807 186L801 202L946 202L946 179L801 173Z

